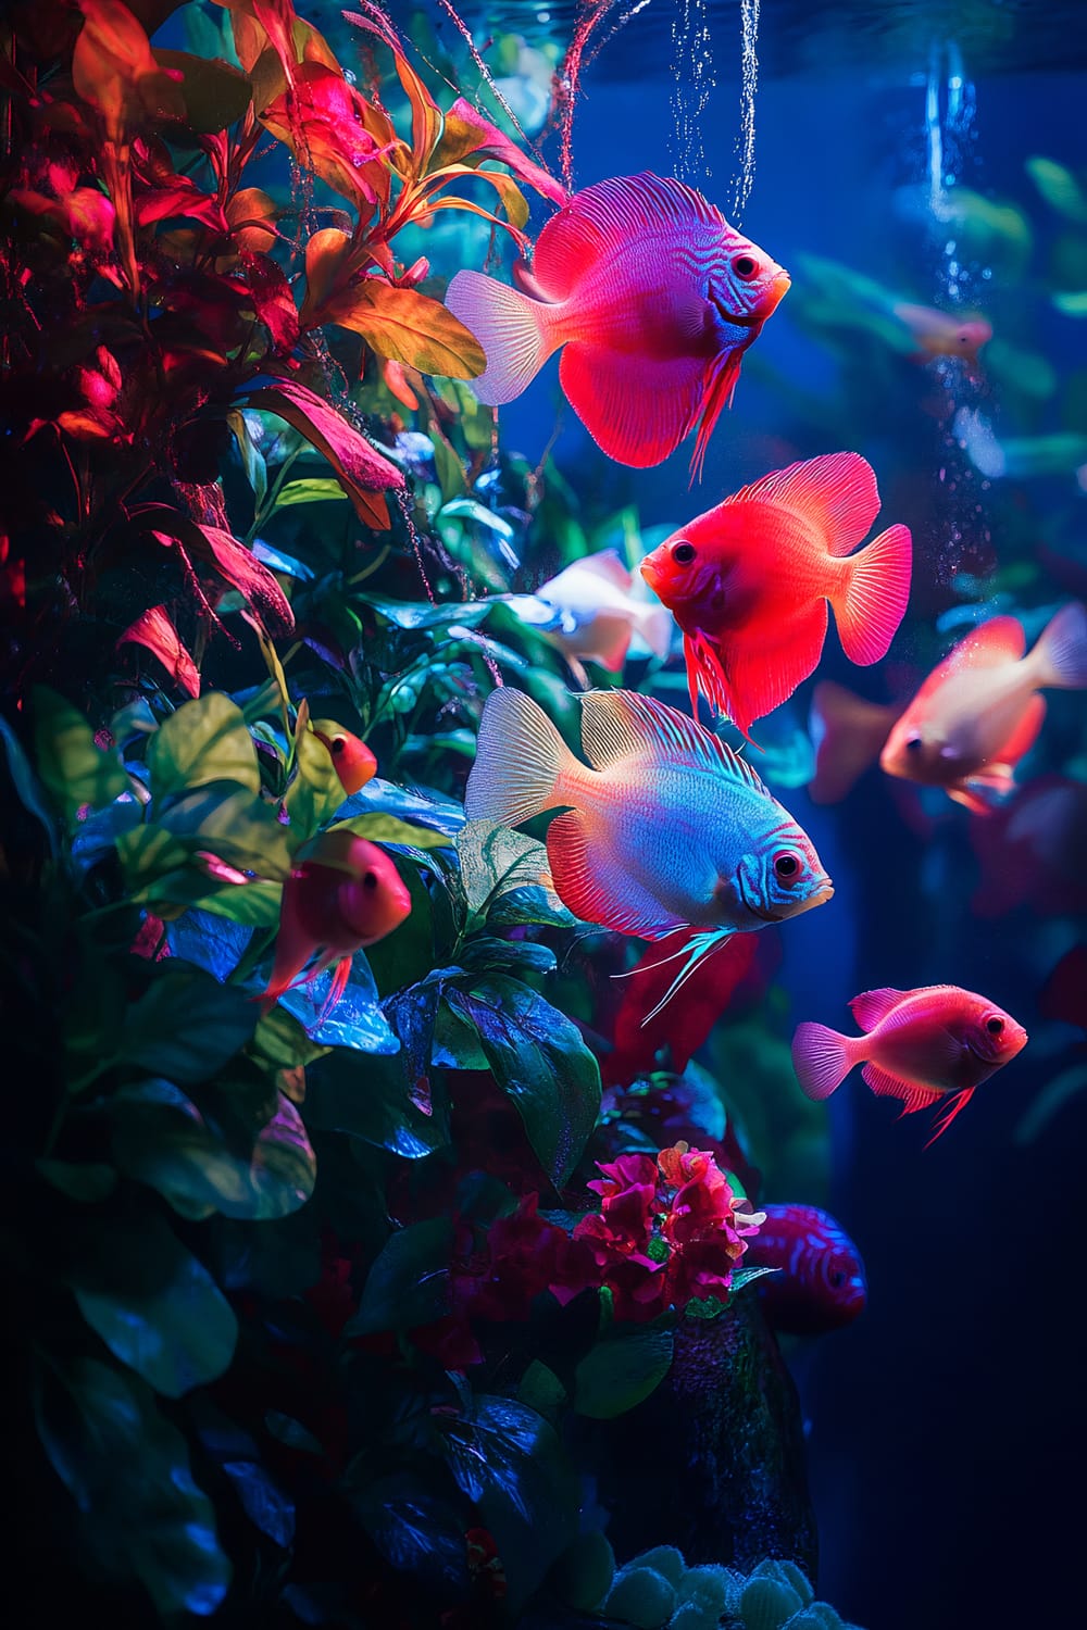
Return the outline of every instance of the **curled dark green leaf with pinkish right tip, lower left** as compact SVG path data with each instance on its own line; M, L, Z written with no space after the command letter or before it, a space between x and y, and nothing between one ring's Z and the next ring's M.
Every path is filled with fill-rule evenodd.
M297 1108L279 1095L248 1154L223 1143L189 1099L166 1081L116 1100L114 1154L135 1182L156 1188L186 1218L213 1211L264 1222L290 1216L313 1193L316 1159Z

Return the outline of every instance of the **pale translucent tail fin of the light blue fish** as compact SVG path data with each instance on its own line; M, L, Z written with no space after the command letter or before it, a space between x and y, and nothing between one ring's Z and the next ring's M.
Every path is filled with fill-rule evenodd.
M482 711L476 763L464 791L469 820L517 826L554 808L556 782L577 760L531 696L508 685L492 691Z

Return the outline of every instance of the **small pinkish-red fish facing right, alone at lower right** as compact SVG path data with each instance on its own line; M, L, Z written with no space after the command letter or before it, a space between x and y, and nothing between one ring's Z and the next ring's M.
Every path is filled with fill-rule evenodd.
M1010 1014L958 985L864 991L849 1007L865 1035L839 1035L823 1024L797 1027L797 1081L818 1102L841 1086L854 1064L864 1064L872 1090L901 1099L903 1115L945 1099L929 1143L947 1131L975 1089L1027 1045L1027 1032Z

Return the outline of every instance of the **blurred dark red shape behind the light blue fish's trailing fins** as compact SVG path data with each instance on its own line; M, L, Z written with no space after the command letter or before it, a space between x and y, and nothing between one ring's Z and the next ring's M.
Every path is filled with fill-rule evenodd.
M683 937L683 949L693 936L694 931ZM766 936L735 934L725 941L712 957L698 963L691 978L660 1012L655 1009L675 976L675 960L662 955L660 945L650 945L626 976L626 993L614 1022L614 1048L600 1066L605 1086L626 1086L636 1076L655 1069L657 1053L665 1043L668 1068L681 1074L720 1015L737 998L743 999L745 988L758 991L766 986L766 976L756 968L764 939ZM647 1020L649 1012L655 1017Z

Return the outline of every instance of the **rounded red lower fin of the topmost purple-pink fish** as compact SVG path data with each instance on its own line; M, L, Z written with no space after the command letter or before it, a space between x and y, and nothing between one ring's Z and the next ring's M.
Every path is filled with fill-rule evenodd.
M660 465L702 403L704 357L642 357L572 339L559 383L596 447L636 469Z

